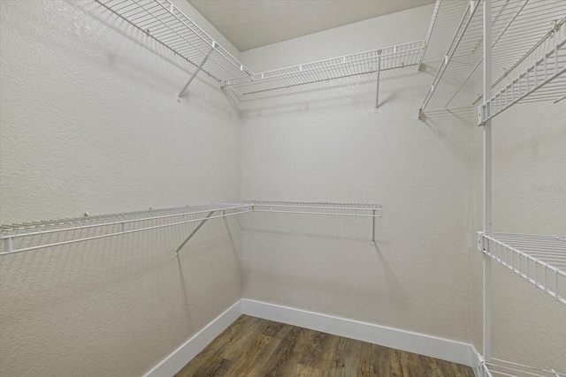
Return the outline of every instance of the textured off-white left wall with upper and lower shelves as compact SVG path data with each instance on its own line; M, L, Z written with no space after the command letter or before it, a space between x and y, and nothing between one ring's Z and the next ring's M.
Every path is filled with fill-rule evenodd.
M0 222L240 199L218 83L199 75L177 103L194 68L94 1L2 1L0 17ZM0 258L0 375L157 365L241 298L221 220L175 258L194 226Z

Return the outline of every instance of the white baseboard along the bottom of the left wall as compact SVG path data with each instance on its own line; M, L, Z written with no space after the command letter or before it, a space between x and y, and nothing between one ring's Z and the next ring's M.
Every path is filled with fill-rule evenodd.
M226 312L220 314L216 320L212 320L195 336L173 351L171 355L164 358L163 361L146 373L145 377L172 377L240 316L241 300L232 305Z

